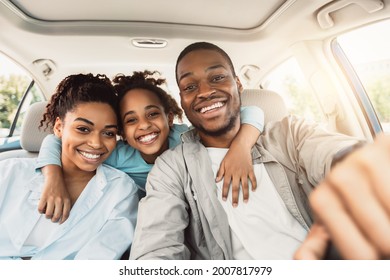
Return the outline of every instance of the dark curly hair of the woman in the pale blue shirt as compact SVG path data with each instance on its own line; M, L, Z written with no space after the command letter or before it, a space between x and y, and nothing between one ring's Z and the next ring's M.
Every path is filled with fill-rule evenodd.
M63 79L57 86L39 127L53 129L56 118L64 120L67 112L80 103L100 102L112 107L118 118L118 96L106 75L75 74ZM119 118L118 118L119 119Z

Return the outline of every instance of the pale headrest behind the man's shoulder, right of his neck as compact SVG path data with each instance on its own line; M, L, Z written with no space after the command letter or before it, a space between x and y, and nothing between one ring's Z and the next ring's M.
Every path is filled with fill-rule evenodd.
M288 115L283 98L267 89L244 89L241 94L242 106L258 106L264 111L264 123L280 121Z

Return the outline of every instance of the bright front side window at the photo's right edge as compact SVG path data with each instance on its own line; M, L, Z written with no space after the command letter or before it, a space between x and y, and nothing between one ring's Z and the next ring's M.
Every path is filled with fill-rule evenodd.
M390 133L390 21L337 37L334 53L345 69L373 132ZM337 51L340 48L342 51ZM377 127L376 127L377 125Z

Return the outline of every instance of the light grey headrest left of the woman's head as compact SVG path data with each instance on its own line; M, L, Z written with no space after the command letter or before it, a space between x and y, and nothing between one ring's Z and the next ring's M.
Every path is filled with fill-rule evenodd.
M47 102L36 102L28 108L22 123L20 145L29 152L39 152L43 138L50 132L39 127Z

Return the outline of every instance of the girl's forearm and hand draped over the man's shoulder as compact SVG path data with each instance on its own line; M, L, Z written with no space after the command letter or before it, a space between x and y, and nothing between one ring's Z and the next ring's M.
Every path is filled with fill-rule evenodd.
M249 106L241 108L241 128L230 145L229 151L221 162L216 181L223 181L222 199L226 200L230 183L232 184L233 206L238 205L239 188L242 186L243 201L249 197L248 178L252 191L257 187L253 172L252 147L255 145L264 128L264 112L259 107Z

